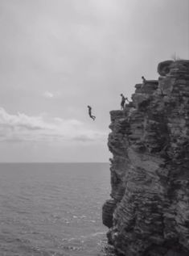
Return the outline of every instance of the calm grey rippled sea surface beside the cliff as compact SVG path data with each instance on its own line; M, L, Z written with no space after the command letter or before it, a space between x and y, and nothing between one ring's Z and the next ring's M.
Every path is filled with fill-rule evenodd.
M108 255L109 183L109 164L0 164L0 255Z

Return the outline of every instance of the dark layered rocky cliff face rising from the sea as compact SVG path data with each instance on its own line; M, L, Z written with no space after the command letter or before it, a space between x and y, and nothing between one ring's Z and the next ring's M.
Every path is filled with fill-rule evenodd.
M126 256L189 255L189 61L164 61L111 111L109 243Z

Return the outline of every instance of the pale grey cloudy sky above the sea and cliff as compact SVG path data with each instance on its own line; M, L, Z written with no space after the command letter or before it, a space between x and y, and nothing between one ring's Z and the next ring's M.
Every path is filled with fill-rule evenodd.
M109 162L109 111L174 56L188 0L0 0L0 162Z

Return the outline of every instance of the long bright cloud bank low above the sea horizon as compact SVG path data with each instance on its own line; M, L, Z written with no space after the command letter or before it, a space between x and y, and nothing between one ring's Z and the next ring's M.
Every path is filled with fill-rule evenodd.
M44 115L9 114L0 107L0 141L77 141L95 142L105 139L105 132L91 129L80 120L63 120Z

